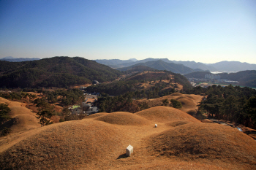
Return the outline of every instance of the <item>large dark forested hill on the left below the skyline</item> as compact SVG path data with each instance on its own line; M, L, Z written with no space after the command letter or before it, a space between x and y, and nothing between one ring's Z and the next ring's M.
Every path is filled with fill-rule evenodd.
M92 80L115 80L121 72L85 58L53 57L39 61L0 61L0 88L67 88Z

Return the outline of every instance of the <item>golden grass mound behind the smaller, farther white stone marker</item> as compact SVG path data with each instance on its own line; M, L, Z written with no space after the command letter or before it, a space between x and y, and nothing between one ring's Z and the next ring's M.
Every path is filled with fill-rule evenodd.
M148 120L154 120L160 123L173 122L176 120L187 120L192 123L200 123L200 121L195 117L192 117L186 112L173 107L151 107L149 109L144 109L143 111L137 112L135 115L140 115Z

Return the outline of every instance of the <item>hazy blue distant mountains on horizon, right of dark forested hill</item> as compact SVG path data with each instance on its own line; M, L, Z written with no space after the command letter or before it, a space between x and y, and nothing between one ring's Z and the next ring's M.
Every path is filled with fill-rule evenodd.
M241 63L239 61L221 61L218 63L200 63L195 61L170 61L167 58L146 58L144 60L135 61L134 58L130 60L95 60L98 63L105 64L107 66L110 66L112 68L123 68L123 67L129 67L129 66L137 66L138 63L146 63L148 61L164 61L166 63L178 63L183 64L184 66L187 66L191 69L201 69L203 71L210 71L210 72L216 72L216 71L230 71L230 72L240 72L244 70L256 70L256 64L251 63ZM155 68L154 68L155 69Z

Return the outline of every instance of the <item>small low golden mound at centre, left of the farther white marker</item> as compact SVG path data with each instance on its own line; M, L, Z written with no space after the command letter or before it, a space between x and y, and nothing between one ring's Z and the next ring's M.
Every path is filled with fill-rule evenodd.
M116 125L148 125L150 122L143 117L129 112L113 112L98 117L96 120Z

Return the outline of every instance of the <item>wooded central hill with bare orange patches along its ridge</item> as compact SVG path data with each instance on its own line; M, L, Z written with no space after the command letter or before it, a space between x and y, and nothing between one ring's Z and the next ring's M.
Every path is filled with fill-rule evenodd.
M163 80L167 80L163 81ZM149 82L149 87L145 88L144 83ZM106 93L110 96L124 95L125 93L134 93L133 98L157 98L174 93L175 84L183 85L184 90L192 88L189 81L181 74L172 72L143 72L132 74L124 80L92 85L86 88L89 93ZM168 88L171 86L172 88Z

